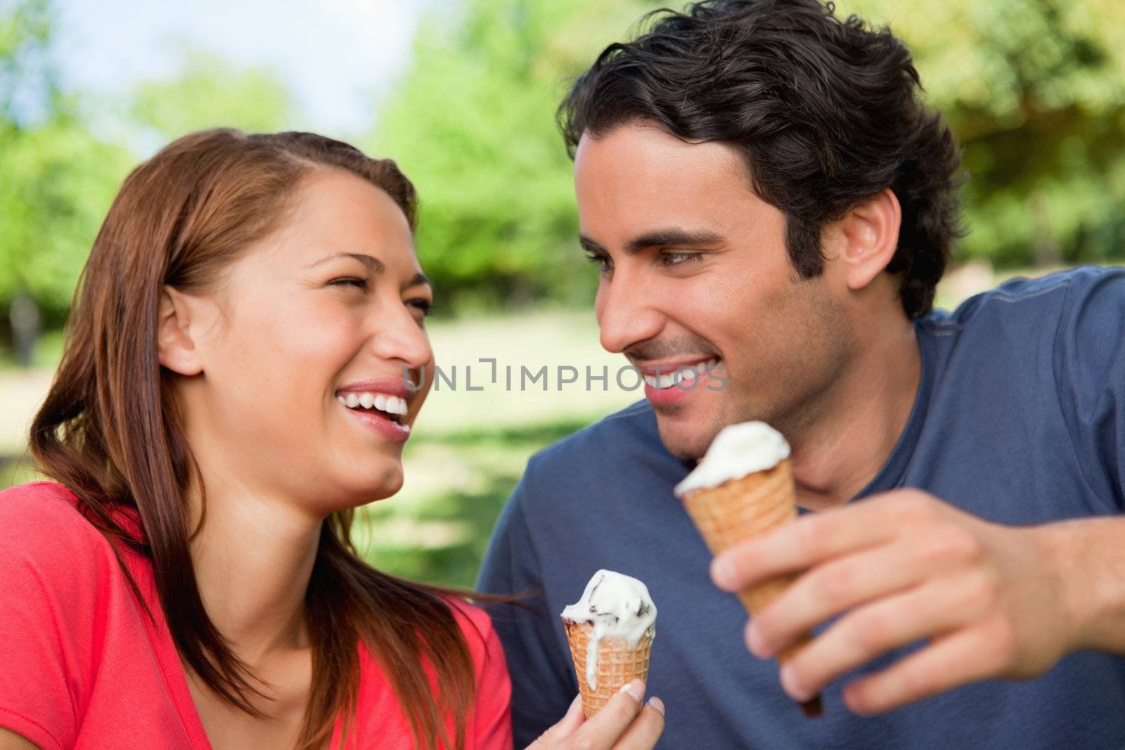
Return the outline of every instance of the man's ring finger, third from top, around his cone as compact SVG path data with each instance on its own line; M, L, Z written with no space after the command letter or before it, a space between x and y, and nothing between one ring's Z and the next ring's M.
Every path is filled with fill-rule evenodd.
M936 638L971 622L984 609L976 587L961 579L920 586L855 609L785 662L785 692L798 701L837 677L894 649Z

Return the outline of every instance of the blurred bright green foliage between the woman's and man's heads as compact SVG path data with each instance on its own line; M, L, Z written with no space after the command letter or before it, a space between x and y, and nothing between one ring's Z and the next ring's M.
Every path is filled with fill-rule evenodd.
M468 0L464 16L422 24L415 65L371 151L417 184L422 262L459 307L588 304L594 274L577 249L555 109L568 80L652 7Z

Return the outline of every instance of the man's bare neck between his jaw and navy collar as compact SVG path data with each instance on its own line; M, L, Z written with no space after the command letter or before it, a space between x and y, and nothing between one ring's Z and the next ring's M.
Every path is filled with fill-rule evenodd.
M850 363L814 422L791 440L799 507L844 505L875 478L907 426L920 377L914 325L903 318Z

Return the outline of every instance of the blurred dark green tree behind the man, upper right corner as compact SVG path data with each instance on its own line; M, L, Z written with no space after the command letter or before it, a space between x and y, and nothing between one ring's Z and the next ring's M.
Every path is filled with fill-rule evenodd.
M1125 3L837 4L910 45L961 141L962 257L1011 266L1125 256Z

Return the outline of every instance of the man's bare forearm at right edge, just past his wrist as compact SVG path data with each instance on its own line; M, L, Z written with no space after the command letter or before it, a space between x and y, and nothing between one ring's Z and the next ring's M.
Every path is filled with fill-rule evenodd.
M1062 581L1072 650L1125 654L1125 517L1041 526L1045 554Z

